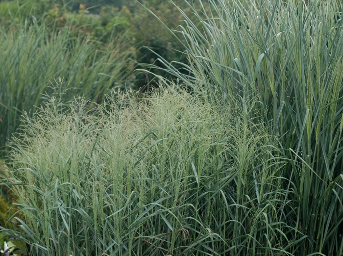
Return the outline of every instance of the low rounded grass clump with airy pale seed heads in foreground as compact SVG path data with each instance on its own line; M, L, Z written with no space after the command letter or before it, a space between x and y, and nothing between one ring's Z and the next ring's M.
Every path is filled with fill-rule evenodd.
M174 85L112 91L90 111L52 97L15 139L9 183L25 219L2 231L37 256L297 250L305 236L284 211L297 194L268 125L249 120L255 103L226 111Z

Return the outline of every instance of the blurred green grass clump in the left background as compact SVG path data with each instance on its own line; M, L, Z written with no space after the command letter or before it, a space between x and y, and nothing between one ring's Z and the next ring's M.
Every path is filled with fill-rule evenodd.
M23 111L34 113L43 94L51 93L50 81L58 77L70 88L66 100L79 94L96 101L111 88L130 86L134 52L119 38L106 45L87 34L74 35L69 27L49 26L33 20L1 30L0 146L19 127Z

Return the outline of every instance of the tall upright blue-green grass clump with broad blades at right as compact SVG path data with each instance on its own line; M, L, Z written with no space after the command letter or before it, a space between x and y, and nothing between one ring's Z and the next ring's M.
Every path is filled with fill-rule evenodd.
M296 204L282 206L282 221L306 239L289 250L343 255L342 2L210 2L206 19L197 14L201 28L184 15L185 25L172 31L187 41L190 75L167 62L166 69L223 108L258 99L248 119L271 122L291 159L282 188Z

